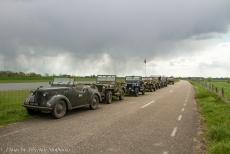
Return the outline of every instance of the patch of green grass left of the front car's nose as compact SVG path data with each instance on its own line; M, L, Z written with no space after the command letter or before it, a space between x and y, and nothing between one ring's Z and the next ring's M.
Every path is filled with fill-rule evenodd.
M0 126L14 123L30 116L22 104L29 95L29 91L0 91Z

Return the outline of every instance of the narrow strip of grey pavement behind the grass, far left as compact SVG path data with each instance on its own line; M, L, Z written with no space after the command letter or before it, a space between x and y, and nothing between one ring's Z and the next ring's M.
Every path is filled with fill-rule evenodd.
M35 82L35 83L1 83L1 90L32 90L40 86L49 86L48 82Z

